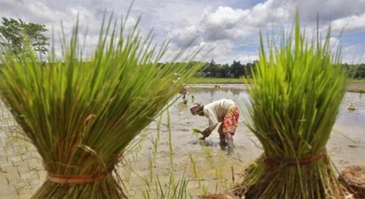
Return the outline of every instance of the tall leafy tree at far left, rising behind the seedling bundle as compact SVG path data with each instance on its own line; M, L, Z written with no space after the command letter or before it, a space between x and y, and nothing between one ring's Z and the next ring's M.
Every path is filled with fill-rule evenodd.
M0 25L0 44L11 49L15 54L26 49L25 39L27 38L33 46L34 51L46 53L48 37L44 33L48 31L43 24L26 23L21 19L2 17Z

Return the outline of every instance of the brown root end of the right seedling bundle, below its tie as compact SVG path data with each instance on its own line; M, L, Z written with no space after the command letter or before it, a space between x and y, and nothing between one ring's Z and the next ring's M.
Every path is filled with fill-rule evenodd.
M327 155L306 164L272 164L262 155L247 169L235 195L249 198L344 198Z

